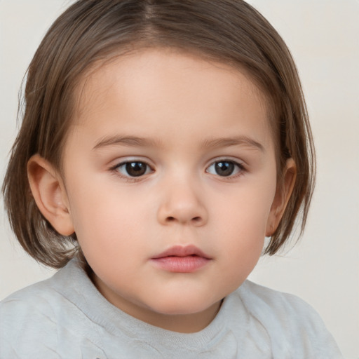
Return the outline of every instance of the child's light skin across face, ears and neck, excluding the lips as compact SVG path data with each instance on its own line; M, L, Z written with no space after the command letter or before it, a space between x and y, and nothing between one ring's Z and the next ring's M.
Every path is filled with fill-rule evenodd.
M80 93L62 173L29 161L39 209L59 233L76 232L109 302L202 330L257 264L294 184L290 159L277 188L266 98L238 69L156 48L99 67ZM205 253L194 271L154 259L187 245Z

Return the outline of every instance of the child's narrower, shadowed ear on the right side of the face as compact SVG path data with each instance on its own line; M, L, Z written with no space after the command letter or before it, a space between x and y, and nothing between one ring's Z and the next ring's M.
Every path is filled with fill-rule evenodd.
M297 177L297 166L293 158L288 158L283 170L283 186L278 186L276 195L274 196L266 225L266 236L273 236L278 228L280 219L283 217L287 203L292 195L295 179Z

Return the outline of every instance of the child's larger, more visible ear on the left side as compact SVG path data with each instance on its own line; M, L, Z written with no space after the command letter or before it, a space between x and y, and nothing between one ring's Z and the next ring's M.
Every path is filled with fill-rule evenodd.
M27 162L27 177L43 217L63 236L74 233L65 186L53 165L35 154Z

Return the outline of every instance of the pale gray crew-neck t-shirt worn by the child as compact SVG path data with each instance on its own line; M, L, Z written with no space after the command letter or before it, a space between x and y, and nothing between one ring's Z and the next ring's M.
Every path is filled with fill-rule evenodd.
M107 302L73 259L0 303L1 359L342 358L301 299L246 280L192 334L137 320Z

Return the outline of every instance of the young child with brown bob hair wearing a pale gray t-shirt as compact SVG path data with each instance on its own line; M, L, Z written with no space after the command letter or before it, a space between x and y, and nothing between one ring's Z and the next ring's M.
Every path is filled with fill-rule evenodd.
M29 67L4 180L60 269L0 305L0 358L341 358L307 304L246 280L302 214L292 57L239 0L77 1Z

